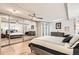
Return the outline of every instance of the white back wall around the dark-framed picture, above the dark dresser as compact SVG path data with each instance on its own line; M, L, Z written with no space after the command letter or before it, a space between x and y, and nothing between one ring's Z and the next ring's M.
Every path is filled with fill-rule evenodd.
M56 23L61 22L61 29L56 29ZM64 32L65 34L74 34L74 20L63 19L51 23L51 32Z

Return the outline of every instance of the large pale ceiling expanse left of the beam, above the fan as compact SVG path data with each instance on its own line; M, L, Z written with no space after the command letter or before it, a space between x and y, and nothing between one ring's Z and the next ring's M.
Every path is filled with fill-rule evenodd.
M11 13L11 10L16 13ZM63 3L2 3L0 12L13 14L23 18L31 18L29 14L36 13L36 16L42 17L43 20L55 20L60 18L66 19L66 13Z

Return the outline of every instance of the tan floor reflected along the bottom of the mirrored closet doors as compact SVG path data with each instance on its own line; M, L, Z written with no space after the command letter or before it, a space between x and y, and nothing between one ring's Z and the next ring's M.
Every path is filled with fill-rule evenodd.
M33 39L34 36L24 36L24 40L31 40ZM10 43L18 43L18 42L22 42L23 41L23 37L22 38L14 38L14 39L10 39ZM1 46L4 45L8 45L9 44L9 39L8 38L1 38Z

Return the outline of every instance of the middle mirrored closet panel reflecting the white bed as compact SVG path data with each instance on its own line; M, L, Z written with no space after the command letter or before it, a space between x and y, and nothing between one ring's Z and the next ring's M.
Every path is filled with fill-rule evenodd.
M10 36L10 43L18 43L23 41L23 19L10 17L10 29L7 30Z

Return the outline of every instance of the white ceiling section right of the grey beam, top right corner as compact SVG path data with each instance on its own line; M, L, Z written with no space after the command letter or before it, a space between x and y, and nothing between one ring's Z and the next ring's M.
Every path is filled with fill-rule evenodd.
M68 3L69 18L79 19L79 3Z

